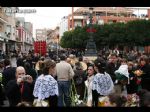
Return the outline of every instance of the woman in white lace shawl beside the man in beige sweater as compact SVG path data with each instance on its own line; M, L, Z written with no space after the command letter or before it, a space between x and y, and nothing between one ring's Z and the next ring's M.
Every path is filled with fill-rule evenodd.
M38 100L47 100L49 106L57 106L58 83L53 77L56 63L46 59L43 64L43 74L35 82L33 95Z

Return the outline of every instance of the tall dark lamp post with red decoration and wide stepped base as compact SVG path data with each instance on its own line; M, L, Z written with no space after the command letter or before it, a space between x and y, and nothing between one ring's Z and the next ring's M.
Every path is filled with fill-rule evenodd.
M96 50L96 44L93 40L93 32L96 30L93 28L93 7L89 8L89 29L87 29L87 32L89 32L89 39L87 41L86 45L86 51L85 51L85 56L97 56L97 50Z

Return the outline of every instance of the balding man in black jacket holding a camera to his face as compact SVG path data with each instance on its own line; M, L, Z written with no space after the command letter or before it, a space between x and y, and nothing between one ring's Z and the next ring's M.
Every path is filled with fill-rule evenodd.
M8 97L10 106L16 106L23 101L33 102L33 79L30 75L25 74L23 67L17 67L16 79L9 81L6 85L6 96Z

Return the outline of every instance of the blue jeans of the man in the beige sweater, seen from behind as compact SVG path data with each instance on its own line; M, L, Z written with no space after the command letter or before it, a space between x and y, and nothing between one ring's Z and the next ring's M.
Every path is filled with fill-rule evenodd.
M64 103L66 106L71 106L71 98L70 98L70 81L58 81L58 106L63 107ZM64 98L64 99L63 99Z

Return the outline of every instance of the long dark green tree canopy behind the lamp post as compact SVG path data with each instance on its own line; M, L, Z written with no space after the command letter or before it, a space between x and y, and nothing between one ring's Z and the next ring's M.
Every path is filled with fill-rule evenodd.
M85 48L90 33L89 26L76 27L73 31L64 32L61 38L63 48ZM146 46L150 45L150 20L135 20L128 23L93 25L97 32L93 38L97 48L101 46Z

